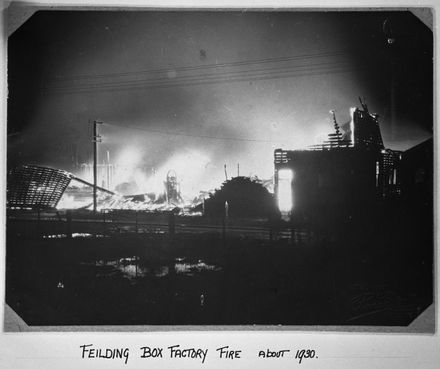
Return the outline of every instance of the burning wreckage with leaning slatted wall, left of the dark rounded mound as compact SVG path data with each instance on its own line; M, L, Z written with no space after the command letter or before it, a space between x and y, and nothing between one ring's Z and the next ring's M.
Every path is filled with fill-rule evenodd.
M208 192L187 200L180 192L175 171L170 170L163 192L123 195L100 186L97 209L147 210L192 213ZM23 165L8 173L7 206L10 209L88 209L93 208L93 184L64 170Z

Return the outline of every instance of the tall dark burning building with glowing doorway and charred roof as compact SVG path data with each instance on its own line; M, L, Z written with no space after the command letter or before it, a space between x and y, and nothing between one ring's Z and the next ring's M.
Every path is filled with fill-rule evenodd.
M281 212L292 219L339 214L351 217L377 198L400 196L401 153L385 149L378 116L350 110L343 127L336 122L328 140L307 150L274 152L275 196Z

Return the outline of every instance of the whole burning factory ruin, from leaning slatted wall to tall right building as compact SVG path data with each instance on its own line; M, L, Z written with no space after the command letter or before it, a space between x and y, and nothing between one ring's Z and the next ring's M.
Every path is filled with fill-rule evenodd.
M351 121L341 127L331 111L335 130L322 144L307 150L275 150L273 180L236 177L226 180L216 191L200 191L197 196L188 198L181 194L176 172L169 170L162 191L155 193L124 195L96 186L97 210L214 215L224 212L228 203L232 213L242 212L237 211L240 208L249 210L245 216L250 216L249 212L257 210L258 215L263 215L261 209L254 208L255 204L264 203L263 213L274 216L280 211L284 219L310 218L314 212L327 208L329 211L346 209L350 213L347 216L352 216L359 201L371 202L373 198L395 198L401 194L402 153L385 149L378 116L370 113L362 100L361 105L363 109L350 110ZM92 210L93 188L92 183L72 173L24 165L8 173L7 206L11 209ZM256 197L244 204L249 193Z

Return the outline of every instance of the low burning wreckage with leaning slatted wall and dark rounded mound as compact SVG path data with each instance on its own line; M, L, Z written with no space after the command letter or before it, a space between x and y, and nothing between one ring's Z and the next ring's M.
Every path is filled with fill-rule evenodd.
M269 183L270 182L270 183ZM215 191L200 191L197 196L181 194L177 174L169 170L162 192L123 195L97 186L97 210L173 211L180 215L216 216L223 214L225 202L231 215L264 216L273 211L273 196L266 188L272 181L234 177ZM9 172L10 209L93 209L93 184L72 173L35 165L23 165Z

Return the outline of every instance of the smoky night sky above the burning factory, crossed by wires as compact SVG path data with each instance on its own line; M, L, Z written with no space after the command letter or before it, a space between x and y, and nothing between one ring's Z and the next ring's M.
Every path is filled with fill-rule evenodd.
M8 41L8 161L72 170L99 118L114 161L179 166L199 189L224 163L268 178L275 148L317 143L358 96L407 149L432 136L432 46L408 12L40 11Z

